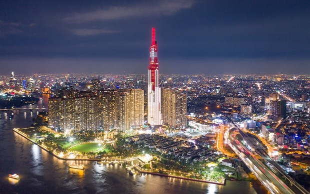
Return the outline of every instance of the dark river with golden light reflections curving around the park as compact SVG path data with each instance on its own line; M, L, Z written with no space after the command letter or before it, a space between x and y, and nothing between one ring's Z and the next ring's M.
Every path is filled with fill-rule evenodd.
M31 107L47 107L48 95ZM29 127L39 110L0 111L0 194L267 194L257 182L225 186L153 175L130 176L122 166L80 162L85 170L68 169L38 146L12 131ZM17 173L20 180L8 178Z

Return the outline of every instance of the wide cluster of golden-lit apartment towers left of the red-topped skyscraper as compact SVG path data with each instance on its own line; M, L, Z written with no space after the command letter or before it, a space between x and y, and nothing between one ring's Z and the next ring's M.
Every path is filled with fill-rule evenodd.
M141 89L66 91L48 100L48 125L56 131L128 130L143 125Z

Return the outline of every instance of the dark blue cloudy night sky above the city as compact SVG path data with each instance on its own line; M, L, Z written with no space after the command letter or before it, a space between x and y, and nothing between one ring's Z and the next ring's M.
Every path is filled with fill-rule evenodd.
M1 0L0 74L310 74L310 0Z

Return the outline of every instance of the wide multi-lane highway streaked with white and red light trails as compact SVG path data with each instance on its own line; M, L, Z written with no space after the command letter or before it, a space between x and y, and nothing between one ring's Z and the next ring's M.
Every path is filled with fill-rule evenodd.
M260 162L256 157L241 143L243 141L239 130L235 127L227 130L225 138L228 145L251 170L261 184L272 194L294 194L268 167Z

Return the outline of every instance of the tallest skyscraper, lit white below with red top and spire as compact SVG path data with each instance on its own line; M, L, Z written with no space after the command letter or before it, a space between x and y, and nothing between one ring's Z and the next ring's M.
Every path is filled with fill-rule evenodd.
M151 126L161 126L160 112L160 88L159 88L159 64L157 55L157 42L155 40L155 28L152 28L152 43L149 47L149 65L147 71L147 122Z

